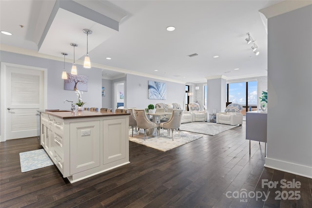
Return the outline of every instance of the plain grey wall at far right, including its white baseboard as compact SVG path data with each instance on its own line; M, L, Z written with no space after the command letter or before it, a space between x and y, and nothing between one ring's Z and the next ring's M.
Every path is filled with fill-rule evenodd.
M312 5L268 19L265 166L312 178Z

